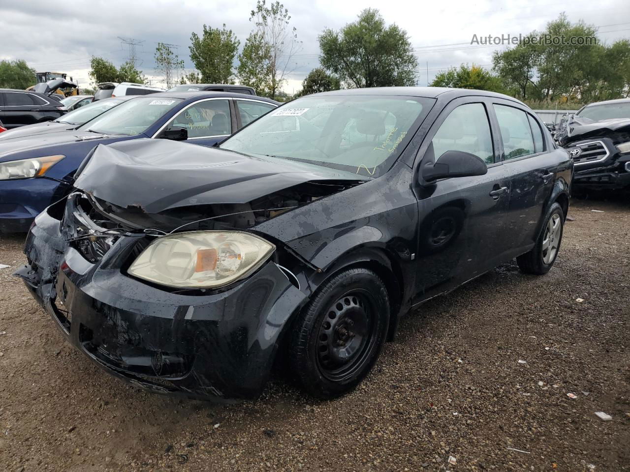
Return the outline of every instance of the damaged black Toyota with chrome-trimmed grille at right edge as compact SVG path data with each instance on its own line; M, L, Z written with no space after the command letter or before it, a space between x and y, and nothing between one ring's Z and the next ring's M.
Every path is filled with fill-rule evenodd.
M576 190L630 188L630 98L584 106L555 138L573 157Z

